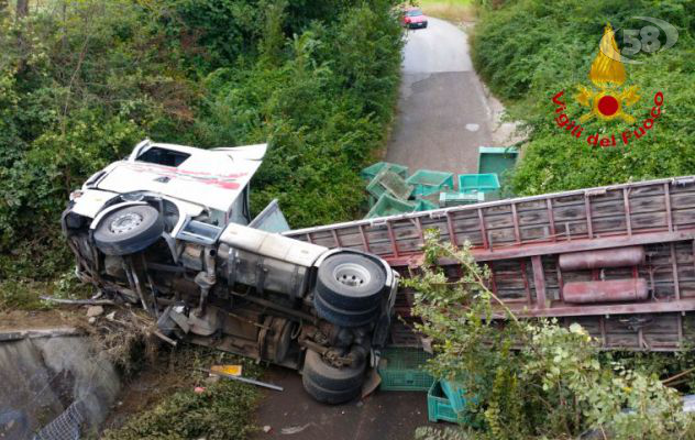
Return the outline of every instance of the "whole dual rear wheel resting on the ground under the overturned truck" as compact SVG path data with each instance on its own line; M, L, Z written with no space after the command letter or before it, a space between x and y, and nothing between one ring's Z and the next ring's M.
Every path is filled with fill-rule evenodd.
M366 361L342 369L327 364L321 355L307 350L301 383L307 393L324 404L342 404L354 399L362 391Z

